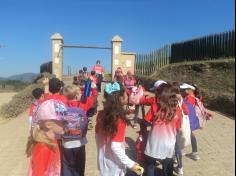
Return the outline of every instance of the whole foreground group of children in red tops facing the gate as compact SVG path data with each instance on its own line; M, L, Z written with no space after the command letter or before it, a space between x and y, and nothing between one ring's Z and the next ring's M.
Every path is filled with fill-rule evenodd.
M82 83L63 87L56 78L45 79L43 83L44 90L37 88L32 92L37 101L32 104L29 114L31 130L26 150L29 176L84 176L86 132L81 138L64 138L68 122L63 119L63 113L70 107L87 113L97 106L96 82L92 83L91 93L85 101L81 99L85 91ZM152 88L155 96L148 97L141 83L130 71L124 76L122 69L117 69L113 82L105 85L104 107L97 114L95 128L101 176L125 176L127 169L136 175L155 176L158 163L162 164L164 176L171 176L173 171L183 175L182 156L187 139L184 139L185 144L179 145L179 137L186 132L182 128L186 116L191 129L192 153L189 157L200 159L194 135L194 131L202 127L195 109L201 101L196 86L158 80ZM59 105L55 105L55 101ZM135 107L133 127L137 128L140 123L140 136L145 136L139 141L143 144L142 161L137 158L137 162L125 153L125 131L130 124L127 107L131 104ZM138 122L139 109L144 105L150 109L146 114L142 111L144 117ZM209 113L204 113L204 117L210 118ZM176 168L174 158L178 163Z

